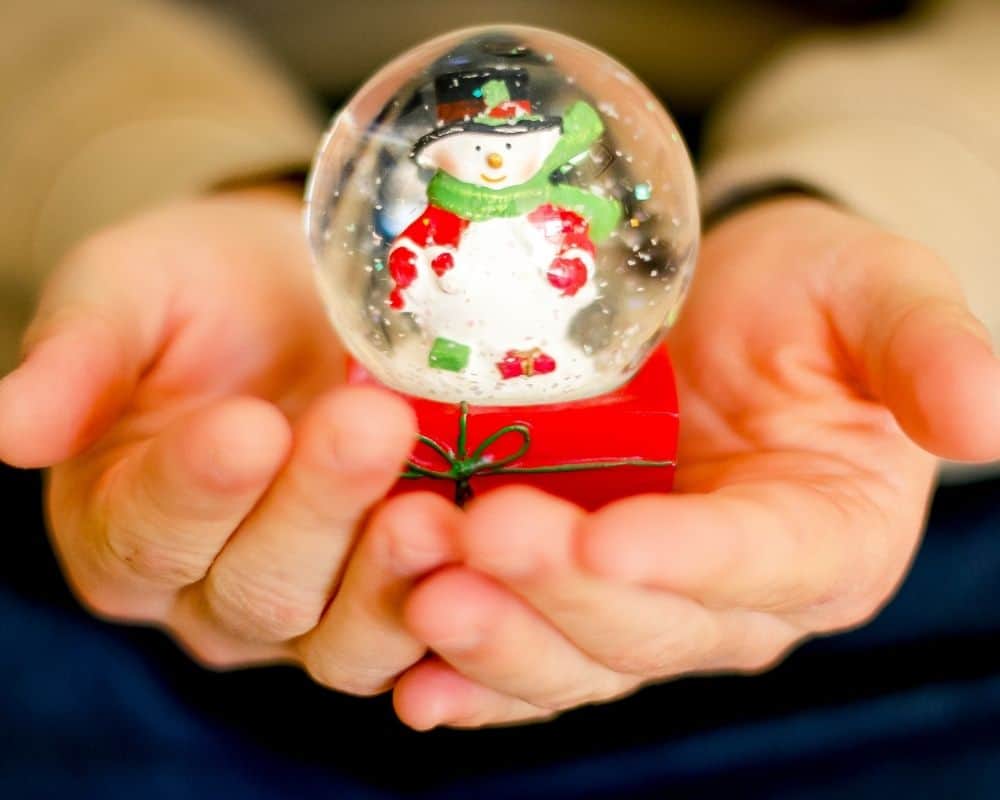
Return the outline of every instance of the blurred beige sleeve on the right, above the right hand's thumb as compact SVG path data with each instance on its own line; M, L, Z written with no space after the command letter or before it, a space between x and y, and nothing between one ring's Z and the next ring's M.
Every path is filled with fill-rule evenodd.
M703 200L791 181L942 255L1000 342L1000 3L817 37L722 111Z

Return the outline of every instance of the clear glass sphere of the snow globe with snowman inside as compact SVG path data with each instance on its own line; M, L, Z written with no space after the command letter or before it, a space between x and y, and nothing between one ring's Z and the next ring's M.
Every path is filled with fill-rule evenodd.
M616 389L673 323L699 220L653 94L550 31L456 31L371 78L313 165L307 229L344 344L382 383L476 405Z

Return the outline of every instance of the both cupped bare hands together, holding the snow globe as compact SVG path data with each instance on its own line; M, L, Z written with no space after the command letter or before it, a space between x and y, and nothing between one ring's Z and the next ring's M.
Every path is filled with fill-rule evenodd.
M787 198L706 237L670 340L677 493L589 515L527 488L383 501L413 417L342 385L301 240L271 191L105 231L0 382L0 458L52 467L83 602L209 666L394 687L417 729L766 669L886 602L932 454L1000 457L1000 363L945 265Z

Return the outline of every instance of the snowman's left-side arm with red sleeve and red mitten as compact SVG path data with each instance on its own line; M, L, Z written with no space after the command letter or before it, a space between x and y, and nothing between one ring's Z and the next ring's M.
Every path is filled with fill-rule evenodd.
M389 304L393 308L405 307L403 291L421 277L428 264L438 277L455 265L454 253L468 225L457 214L429 205L396 237L389 250L389 275L395 284Z

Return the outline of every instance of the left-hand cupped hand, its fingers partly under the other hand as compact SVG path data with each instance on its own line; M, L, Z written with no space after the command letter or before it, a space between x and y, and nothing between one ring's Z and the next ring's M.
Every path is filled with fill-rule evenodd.
M458 512L387 503L348 563L415 423L387 393L330 390L344 356L299 209L220 196L78 248L0 383L0 458L55 465L55 545L98 613L163 625L209 665L293 660L370 693L424 652L398 603Z

